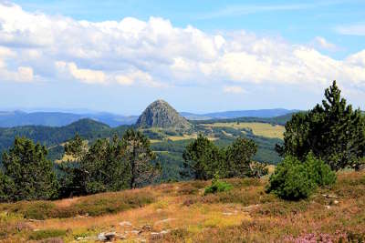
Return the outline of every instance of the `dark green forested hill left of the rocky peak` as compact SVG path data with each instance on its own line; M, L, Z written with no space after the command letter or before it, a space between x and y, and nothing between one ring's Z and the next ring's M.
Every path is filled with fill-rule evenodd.
M65 127L25 126L0 128L0 151L10 147L15 137L28 137L47 147L59 145L78 133L79 136L94 140L99 137L110 137L113 134L121 135L128 126L116 128L91 119L81 119Z

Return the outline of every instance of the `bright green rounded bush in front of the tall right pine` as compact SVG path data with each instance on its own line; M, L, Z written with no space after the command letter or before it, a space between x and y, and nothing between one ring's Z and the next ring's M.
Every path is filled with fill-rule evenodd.
M336 174L312 153L304 163L297 157L287 156L269 178L266 192L287 200L299 200L309 197L318 186L329 186L335 181Z

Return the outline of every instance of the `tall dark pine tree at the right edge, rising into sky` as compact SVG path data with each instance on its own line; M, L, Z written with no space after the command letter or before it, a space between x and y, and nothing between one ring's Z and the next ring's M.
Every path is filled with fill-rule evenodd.
M296 114L286 125L279 153L303 159L310 151L334 169L360 167L365 154L365 123L360 109L353 110L336 81L326 89L322 105Z

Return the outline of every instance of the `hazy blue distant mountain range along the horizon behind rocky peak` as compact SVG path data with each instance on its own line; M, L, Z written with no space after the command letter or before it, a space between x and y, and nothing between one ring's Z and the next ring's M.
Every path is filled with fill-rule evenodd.
M180 115L189 120L210 120L210 119L229 119L236 117L274 117L283 116L297 110L287 109L260 109L260 110L240 110L240 111L224 111L207 114L193 114L181 112ZM110 127L118 127L120 125L132 125L137 122L139 116L121 116L111 113L89 113L75 114L66 112L23 112L23 111L0 111L0 127L18 127L18 126L48 126L63 127L76 122L80 119L89 118Z

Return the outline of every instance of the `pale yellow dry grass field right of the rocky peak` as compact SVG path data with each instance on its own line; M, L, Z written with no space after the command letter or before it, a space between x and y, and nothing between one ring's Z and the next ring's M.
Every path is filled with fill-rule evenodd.
M243 122L243 123L213 123L213 124L204 124L205 127L232 127L235 129L242 129L242 128L250 128L252 129L253 133L257 136L263 137L277 137L280 139L284 138L284 126L272 126L268 123L259 123L259 122Z

